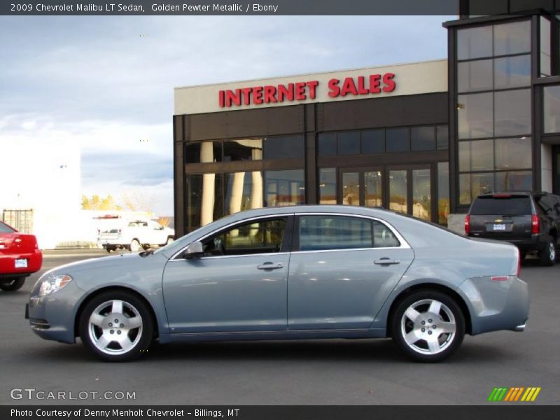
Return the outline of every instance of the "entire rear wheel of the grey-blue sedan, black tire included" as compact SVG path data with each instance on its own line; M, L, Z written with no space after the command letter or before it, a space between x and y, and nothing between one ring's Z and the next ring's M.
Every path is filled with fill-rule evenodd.
M437 312L439 319L433 319L433 314L427 310L430 308L431 302L441 304L440 310ZM412 322L408 316L405 316L405 312L411 308L419 309L416 311L418 313L416 322ZM437 306L433 308L437 310L435 309ZM411 311L411 314L414 312ZM451 325L454 325L454 332L443 332L442 324L437 326L439 322L445 323L444 328L451 328ZM461 346L465 337L465 317L457 302L449 295L437 290L420 290L408 295L397 304L393 316L391 316L390 328L393 342L409 358L417 362L434 363L448 358ZM408 344L405 339L405 337L409 337L409 334L414 337L412 339L416 339L411 344ZM433 349L430 349L428 339L435 343Z

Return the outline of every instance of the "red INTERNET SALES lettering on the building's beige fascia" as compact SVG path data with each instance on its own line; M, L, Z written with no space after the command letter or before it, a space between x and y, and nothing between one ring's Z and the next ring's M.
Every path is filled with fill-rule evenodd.
M344 80L328 80L328 96L331 98L373 95L395 90L395 74L370 74L370 76L346 77ZM221 108L241 105L275 104L316 99L321 89L318 80L279 85L241 87L235 90L220 90L218 101Z

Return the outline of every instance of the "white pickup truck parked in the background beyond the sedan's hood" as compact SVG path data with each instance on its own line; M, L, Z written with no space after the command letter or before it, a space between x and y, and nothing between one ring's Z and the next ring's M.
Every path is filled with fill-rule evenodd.
M154 245L167 245L174 240L175 231L156 221L132 221L123 228L112 228L99 233L97 244L107 252L117 248L138 252Z

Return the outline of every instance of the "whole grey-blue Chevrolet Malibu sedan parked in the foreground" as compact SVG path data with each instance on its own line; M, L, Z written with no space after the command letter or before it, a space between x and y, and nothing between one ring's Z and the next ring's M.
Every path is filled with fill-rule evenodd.
M104 360L161 343L392 337L414 360L454 353L465 334L522 331L528 288L515 246L391 211L249 210L158 251L57 267L27 316L45 339L76 337Z

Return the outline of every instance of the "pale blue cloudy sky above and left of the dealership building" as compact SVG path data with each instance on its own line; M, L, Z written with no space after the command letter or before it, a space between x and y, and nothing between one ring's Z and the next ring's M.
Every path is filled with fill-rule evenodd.
M78 144L82 194L171 216L174 87L442 59L453 19L0 16L0 161Z

